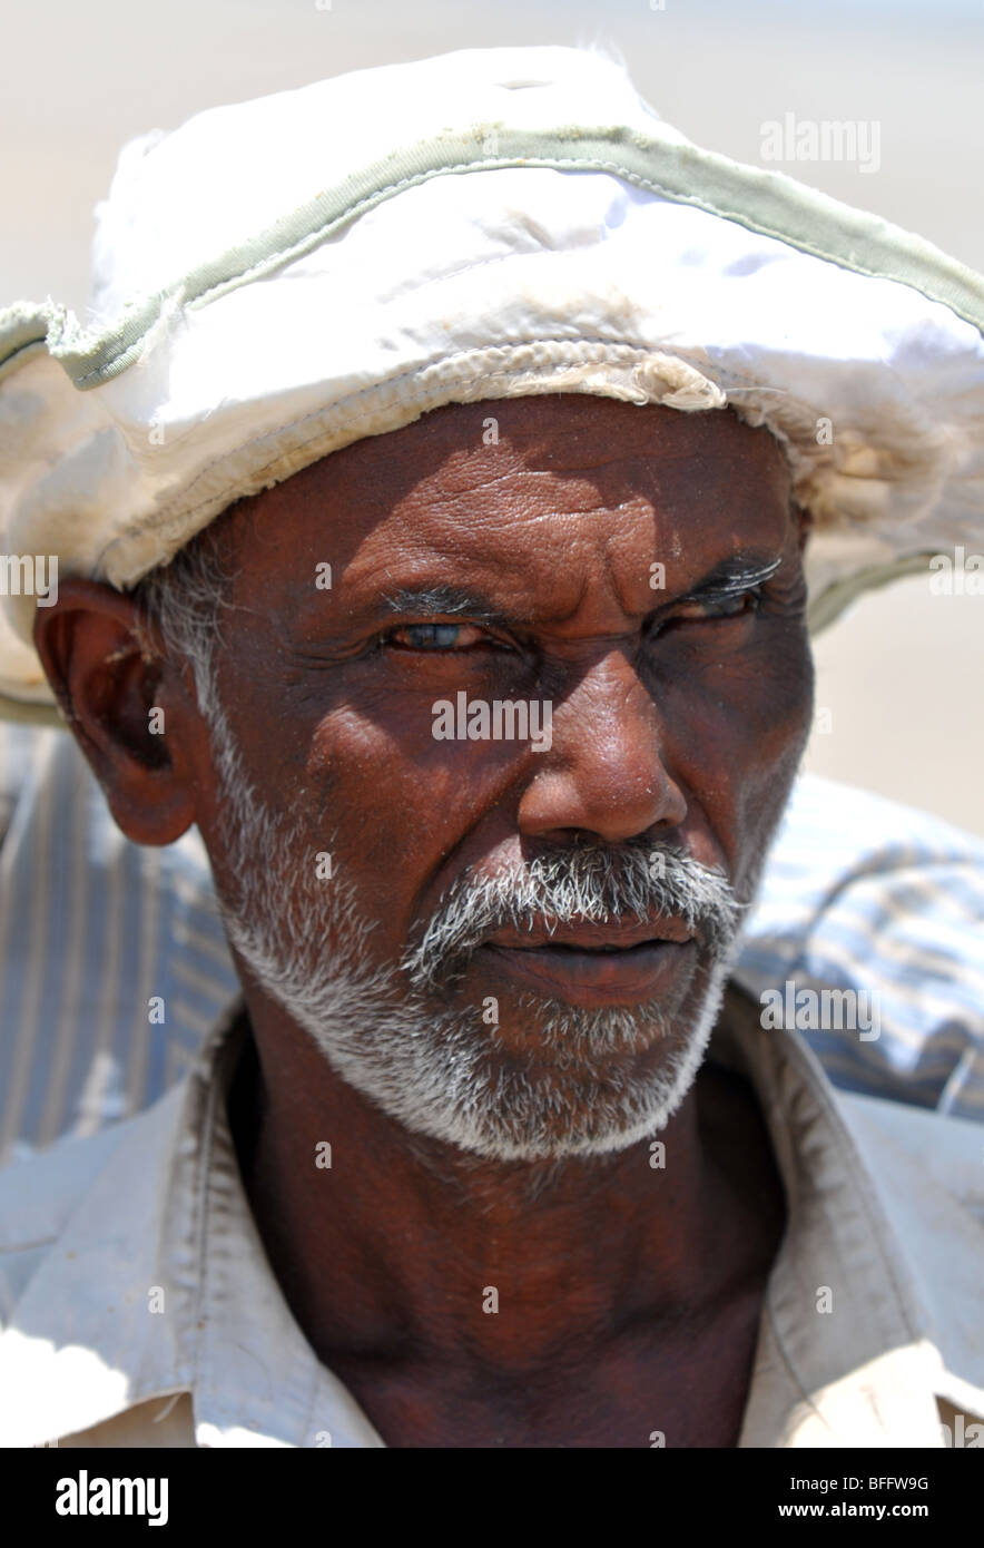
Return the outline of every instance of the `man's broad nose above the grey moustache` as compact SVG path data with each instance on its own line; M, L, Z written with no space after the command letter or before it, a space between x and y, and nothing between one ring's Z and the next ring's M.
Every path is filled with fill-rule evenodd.
M529 837L593 833L616 844L679 827L687 802L662 757L659 709L622 650L552 701L552 740L520 800Z

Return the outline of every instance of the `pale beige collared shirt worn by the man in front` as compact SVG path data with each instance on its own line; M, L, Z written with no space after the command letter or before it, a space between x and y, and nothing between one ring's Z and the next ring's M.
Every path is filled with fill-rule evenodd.
M727 1006L709 1057L749 1079L788 1209L740 1446L984 1441L979 1127L839 1094ZM227 1118L243 1036L226 1017L147 1113L0 1172L3 1444L384 1444L263 1251Z

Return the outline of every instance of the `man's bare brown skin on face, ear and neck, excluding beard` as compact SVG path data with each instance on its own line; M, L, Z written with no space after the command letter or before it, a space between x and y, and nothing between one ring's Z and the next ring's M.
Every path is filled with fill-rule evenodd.
M671 841L750 895L812 712L805 526L767 432L577 395L453 404L240 502L217 537L238 570L220 692L249 776L313 853L337 828L381 961L464 867L579 834ZM701 584L736 554L780 565L724 607ZM421 584L466 585L497 622L384 605ZM453 649L405 633L435 621L461 625ZM169 844L196 822L221 879L190 675L142 656L133 625L128 596L68 580L36 638L122 831ZM430 704L461 687L548 697L551 749L435 741ZM249 1200L300 1328L387 1444L736 1444L784 1226L741 1077L702 1067L662 1170L648 1142L481 1159L353 1091L240 968L252 1040L231 1110ZM549 1082L520 989L480 950L446 992L500 997L503 1057L521 1046ZM651 1068L665 1046L620 1057ZM323 1139L331 1170L313 1161Z

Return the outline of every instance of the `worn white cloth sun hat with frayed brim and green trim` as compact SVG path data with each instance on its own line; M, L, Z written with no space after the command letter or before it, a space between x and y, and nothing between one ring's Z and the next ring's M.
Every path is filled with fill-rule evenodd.
M979 276L701 150L593 51L356 71L128 144L88 325L0 313L3 550L130 587L241 495L439 404L732 404L814 515L820 627L981 542L982 325ZM53 715L36 605L5 599L0 692Z

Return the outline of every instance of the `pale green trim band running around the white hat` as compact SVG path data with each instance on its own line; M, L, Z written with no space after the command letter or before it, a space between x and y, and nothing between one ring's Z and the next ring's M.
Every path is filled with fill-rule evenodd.
M497 153L484 153L495 138ZM350 173L334 189L291 211L265 232L178 277L167 291L135 305L113 330L91 336L68 331L62 308L22 308L0 327L0 375L14 358L46 339L76 387L99 387L132 365L169 296L203 307L240 285L292 263L345 224L435 176L501 167L552 167L606 172L634 187L692 204L764 237L873 279L894 280L948 307L984 333L984 279L933 243L797 183L781 172L744 166L676 138L645 136L613 127L585 135L579 127L540 130L475 125L466 135L424 139ZM50 327L46 327L50 317Z

